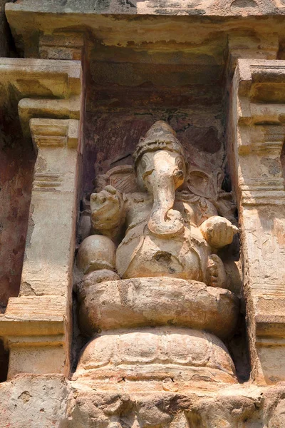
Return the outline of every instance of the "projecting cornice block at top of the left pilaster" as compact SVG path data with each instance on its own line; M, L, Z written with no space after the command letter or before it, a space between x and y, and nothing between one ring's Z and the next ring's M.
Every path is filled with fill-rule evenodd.
M31 118L79 119L81 61L0 58L0 108L16 114L24 138Z

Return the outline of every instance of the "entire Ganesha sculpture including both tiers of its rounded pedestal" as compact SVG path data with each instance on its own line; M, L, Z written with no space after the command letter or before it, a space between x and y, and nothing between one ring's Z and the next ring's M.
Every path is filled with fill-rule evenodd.
M222 170L189 168L165 121L140 138L133 160L98 176L90 225L83 217L90 235L76 259L79 322L100 334L76 376L151 381L167 370L173 382L237 382L221 340L239 316L237 284L219 257L238 232Z

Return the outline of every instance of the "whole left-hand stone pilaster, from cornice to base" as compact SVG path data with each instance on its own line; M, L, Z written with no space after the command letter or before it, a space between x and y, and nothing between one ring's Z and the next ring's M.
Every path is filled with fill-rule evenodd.
M81 159L80 61L0 60L23 138L37 151L19 297L0 316L11 378L69 370L72 268Z

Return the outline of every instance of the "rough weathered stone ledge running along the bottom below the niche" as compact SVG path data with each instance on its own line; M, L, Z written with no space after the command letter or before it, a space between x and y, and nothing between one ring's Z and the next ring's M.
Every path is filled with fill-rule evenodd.
M171 381L170 381L171 382ZM103 383L103 382L102 382ZM202 384L145 389L112 379L110 389L58 374L19 375L0 387L0 426L11 428L283 428L285 385ZM161 382L162 383L162 382ZM192 383L191 383L192 385Z

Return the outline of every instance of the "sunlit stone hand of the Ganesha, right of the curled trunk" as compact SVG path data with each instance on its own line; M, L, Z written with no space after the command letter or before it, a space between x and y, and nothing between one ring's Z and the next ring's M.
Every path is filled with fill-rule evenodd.
M227 218L213 215L200 226L200 230L207 243L215 249L222 248L232 243L234 234L238 228L227 220Z

